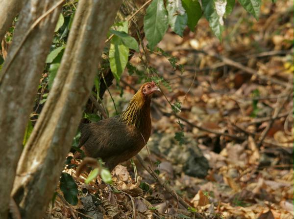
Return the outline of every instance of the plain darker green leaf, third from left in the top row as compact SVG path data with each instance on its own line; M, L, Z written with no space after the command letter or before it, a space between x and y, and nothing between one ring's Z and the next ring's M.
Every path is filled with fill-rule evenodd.
M197 0L182 0L183 7L188 15L187 25L194 32L195 26L202 16L202 10Z

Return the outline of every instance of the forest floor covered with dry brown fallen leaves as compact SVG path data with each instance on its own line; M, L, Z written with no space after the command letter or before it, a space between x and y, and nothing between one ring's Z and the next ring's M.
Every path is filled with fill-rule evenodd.
M57 197L50 217L293 219L293 8L290 0L263 2L257 22L236 7L222 42L204 19L183 38L167 33L158 46L177 58L182 71L161 52L149 54L148 63L170 82L171 91L161 88L181 111L173 114L163 95L154 99L149 150L140 153L164 184L136 158L116 167L113 185L99 179L85 184L87 174L77 178L66 169L78 184L79 203ZM140 68L138 56L131 63ZM127 72L122 80L123 97L111 87L119 110L140 84ZM114 113L109 94L104 102Z

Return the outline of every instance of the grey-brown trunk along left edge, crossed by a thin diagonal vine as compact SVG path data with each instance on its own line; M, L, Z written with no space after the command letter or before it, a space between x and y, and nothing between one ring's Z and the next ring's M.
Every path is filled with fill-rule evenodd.
M25 33L56 1L26 1L16 25L8 56L0 72L1 219L7 218L17 162L23 150L25 127L33 108L60 8L56 8L31 29L30 35L24 41Z

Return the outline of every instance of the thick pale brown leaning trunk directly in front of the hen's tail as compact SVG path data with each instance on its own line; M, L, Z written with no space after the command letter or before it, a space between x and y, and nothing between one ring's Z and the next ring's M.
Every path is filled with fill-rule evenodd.
M120 0L78 2L60 68L18 164L12 195L23 219L42 218L51 200L120 4Z

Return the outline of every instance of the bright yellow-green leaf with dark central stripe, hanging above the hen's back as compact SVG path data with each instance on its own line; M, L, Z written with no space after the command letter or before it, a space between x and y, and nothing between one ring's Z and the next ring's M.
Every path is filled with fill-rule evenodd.
M117 80L120 81L123 70L128 61L129 48L126 47L121 39L114 36L109 48L110 69Z

